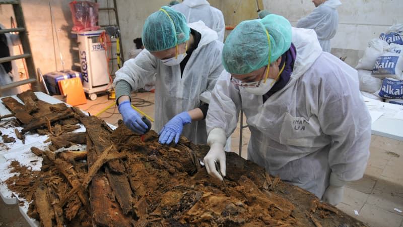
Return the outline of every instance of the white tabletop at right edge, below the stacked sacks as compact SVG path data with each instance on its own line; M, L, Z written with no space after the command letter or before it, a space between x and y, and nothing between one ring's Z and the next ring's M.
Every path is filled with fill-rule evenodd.
M376 118L372 119L372 134L403 141L403 105L363 98L371 117Z

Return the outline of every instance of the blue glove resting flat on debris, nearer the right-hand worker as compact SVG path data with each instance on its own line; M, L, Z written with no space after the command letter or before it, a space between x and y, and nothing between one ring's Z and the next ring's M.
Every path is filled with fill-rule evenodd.
M158 142L162 144L170 144L175 137L175 144L179 141L179 136L182 133L183 126L192 122L188 112L181 112L175 117L173 117L165 126L162 128L158 135L160 139Z

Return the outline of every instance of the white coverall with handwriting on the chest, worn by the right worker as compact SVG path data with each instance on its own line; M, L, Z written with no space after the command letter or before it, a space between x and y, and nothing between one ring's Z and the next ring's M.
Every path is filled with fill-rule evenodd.
M331 171L344 181L363 176L371 118L355 69L323 52L313 30L293 28L292 43L297 58L290 81L264 103L223 71L207 129L222 128L228 137L242 108L251 132L248 159L321 198Z

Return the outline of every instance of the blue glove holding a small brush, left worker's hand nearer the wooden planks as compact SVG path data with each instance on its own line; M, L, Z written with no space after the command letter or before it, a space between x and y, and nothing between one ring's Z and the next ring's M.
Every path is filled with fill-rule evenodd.
M123 122L131 131L144 134L148 126L143 122L142 116L133 108L129 100L123 101L118 106Z

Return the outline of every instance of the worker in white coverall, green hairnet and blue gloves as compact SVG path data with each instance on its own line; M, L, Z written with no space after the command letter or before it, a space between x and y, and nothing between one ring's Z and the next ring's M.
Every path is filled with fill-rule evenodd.
M145 49L116 71L119 112L125 125L144 134L148 127L130 106L130 92L155 83L155 125L159 142L178 142L182 134L193 143L207 142L205 117L211 91L223 71L223 43L202 22L186 24L183 14L162 7L143 27Z

